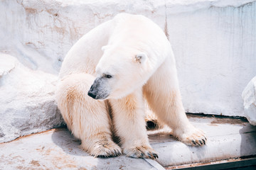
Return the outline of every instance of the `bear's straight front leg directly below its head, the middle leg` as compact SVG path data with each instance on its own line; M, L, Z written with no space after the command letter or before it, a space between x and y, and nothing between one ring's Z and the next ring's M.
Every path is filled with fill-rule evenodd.
M158 158L149 145L144 119L142 91L122 99L110 99L114 129L120 137L124 154L135 158Z

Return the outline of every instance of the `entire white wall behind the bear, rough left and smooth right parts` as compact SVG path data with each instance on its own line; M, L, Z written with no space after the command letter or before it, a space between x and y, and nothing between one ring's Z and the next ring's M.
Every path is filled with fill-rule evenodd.
M0 52L57 75L78 38L120 12L166 27L187 112L244 115L242 90L256 74L253 0L1 0Z

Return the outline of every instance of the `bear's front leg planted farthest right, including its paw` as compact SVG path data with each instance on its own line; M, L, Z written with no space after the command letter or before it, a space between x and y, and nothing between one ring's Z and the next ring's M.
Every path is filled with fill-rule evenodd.
M181 101L174 61L166 61L144 85L143 93L158 119L169 125L174 136L186 145L206 145L206 135L188 121Z

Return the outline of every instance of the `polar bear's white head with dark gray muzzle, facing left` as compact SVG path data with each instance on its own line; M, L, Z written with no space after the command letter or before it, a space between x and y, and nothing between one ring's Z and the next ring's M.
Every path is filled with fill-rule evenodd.
M123 98L143 86L150 76L149 58L134 47L102 47L97 77L88 95L95 99Z

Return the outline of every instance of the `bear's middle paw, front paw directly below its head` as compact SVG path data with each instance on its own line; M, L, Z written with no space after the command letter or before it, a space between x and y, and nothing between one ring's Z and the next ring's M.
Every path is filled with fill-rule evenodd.
M156 152L154 152L154 150L151 147L145 146L145 145L124 149L124 154L126 154L127 157L134 157L134 158L150 158L150 159L158 158L158 155L156 154Z

